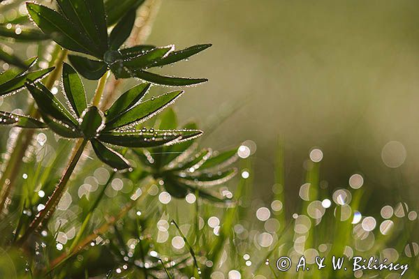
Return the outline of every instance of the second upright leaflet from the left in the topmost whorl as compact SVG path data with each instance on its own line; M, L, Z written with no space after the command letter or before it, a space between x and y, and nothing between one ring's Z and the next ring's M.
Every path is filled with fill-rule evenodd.
M104 54L105 49L101 49L101 36L99 30L96 28L94 18L92 18L91 12L87 2L84 0L57 0L61 12L67 17L70 22L78 28L78 30L84 33L84 36L89 38L89 43L95 45L97 53Z

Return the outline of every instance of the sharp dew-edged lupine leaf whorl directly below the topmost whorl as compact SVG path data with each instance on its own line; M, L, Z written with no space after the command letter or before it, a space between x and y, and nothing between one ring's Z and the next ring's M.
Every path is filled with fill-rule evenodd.
M140 101L150 84L139 84L122 94L108 111L101 112L96 106L87 107L86 93L80 77L66 63L63 66L63 84L65 96L73 112L61 104L43 84L27 84L27 88L51 130L62 137L83 137L84 140L91 141L98 158L116 169L129 167L128 161L101 142L125 147L152 147L190 140L202 134L200 130L150 131L127 127L161 112L183 91L169 92Z

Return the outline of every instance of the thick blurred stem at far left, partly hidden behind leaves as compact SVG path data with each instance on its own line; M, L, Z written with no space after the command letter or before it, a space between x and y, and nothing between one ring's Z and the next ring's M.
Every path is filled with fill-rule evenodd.
M57 45L57 47L59 47ZM45 82L47 89L52 89L55 81L61 73L61 68L63 65L64 59L67 56L67 50L60 50L57 56L57 59L54 61L55 69L48 75ZM29 115L33 118L39 118L39 112L36 110L34 102L29 105ZM0 212L7 207L6 200L9 197L10 190L15 186L16 176L19 174L22 158L26 153L29 144L31 144L32 138L34 137L35 130L20 130L19 135L17 135L17 140L13 146L13 151L10 154L10 159L6 163L6 168L4 169L3 174L0 178Z

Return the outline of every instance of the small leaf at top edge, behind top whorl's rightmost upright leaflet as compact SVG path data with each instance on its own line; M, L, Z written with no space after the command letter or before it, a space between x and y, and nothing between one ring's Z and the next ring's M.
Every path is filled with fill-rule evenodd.
M106 0L105 10L108 26L116 24L130 10L136 10L145 0Z

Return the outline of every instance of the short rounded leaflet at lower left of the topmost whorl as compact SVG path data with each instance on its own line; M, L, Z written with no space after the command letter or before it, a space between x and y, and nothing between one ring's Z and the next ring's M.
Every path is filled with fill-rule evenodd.
M98 80L108 70L106 64L102 61L91 60L83 56L68 55L68 60L75 70L87 80Z

